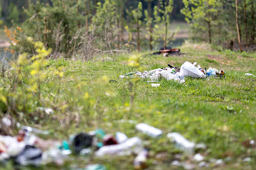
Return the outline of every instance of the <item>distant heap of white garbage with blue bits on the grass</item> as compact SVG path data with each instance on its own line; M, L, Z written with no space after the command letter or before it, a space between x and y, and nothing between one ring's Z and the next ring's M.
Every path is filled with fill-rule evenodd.
M217 70L212 67L209 67L207 70L201 69L200 65L197 65L196 62L193 64L191 62L184 62L181 67L174 67L168 64L169 67L164 69L154 69L150 71L144 71L143 73L135 71L132 73L127 73L125 75L119 75L119 78L131 78L133 76L138 76L142 79L158 80L159 78L165 78L167 80L176 80L177 82L184 83L184 78L190 76L192 78L207 78L207 76L225 76L223 70Z

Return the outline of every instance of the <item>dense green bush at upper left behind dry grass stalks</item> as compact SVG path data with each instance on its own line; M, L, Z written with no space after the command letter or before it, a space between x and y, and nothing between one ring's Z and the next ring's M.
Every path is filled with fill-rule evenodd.
M79 22L82 22L82 14L77 17L76 3L63 3L52 1L53 6L37 2L30 2L28 9L24 9L28 19L22 25L22 34L19 37L19 46L16 51L29 52L26 46L27 37L32 37L34 41L42 41L46 46L50 46L53 52L69 52L73 50ZM79 5L79 4L77 4Z

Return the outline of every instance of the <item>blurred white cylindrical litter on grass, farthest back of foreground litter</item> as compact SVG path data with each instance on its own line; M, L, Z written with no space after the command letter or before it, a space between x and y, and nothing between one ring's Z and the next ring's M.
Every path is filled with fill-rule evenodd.
M143 133L146 133L147 135L150 135L153 138L156 138L159 135L163 134L162 130L156 129L153 126L150 126L144 123L136 125L136 129L139 131L142 131Z

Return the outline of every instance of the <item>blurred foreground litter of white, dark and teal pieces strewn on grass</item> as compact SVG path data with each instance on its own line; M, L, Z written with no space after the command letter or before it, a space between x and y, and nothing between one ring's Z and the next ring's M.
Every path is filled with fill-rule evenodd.
M164 137L162 130L144 123L135 125L135 128L137 131L141 131L152 138ZM63 141L44 140L38 137L39 134L47 135L49 131L31 128L30 126L20 126L20 130L15 137L0 135L0 162L7 162L12 159L16 164L20 165L42 165L48 163L62 165L70 154L94 155L98 158L103 156L137 155L133 162L134 168L143 169L146 167L148 152L150 151L150 148L143 147L144 142L141 138L137 136L129 138L120 131L112 135L106 134L102 129L96 129L71 135L68 140ZM183 151L185 155L189 155L194 162L200 162L199 165L201 166L209 166L210 163L203 161L203 155L195 154L197 148L206 149L204 144L188 141L183 135L176 132L168 133L167 138L174 142L175 146ZM216 160L216 162L224 163L222 160ZM182 163L179 160L174 160L172 165L182 166L186 169L196 167L195 164ZM93 164L88 165L85 169L105 169L105 166Z

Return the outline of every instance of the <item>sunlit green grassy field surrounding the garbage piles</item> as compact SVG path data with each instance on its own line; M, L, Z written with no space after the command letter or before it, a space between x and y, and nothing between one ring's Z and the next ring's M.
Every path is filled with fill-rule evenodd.
M172 161L191 162L167 138L170 132L204 143L207 149L197 152L205 156L206 162L211 158L224 161L220 166L211 164L210 169L253 169L256 150L242 143L256 139L256 78L245 75L256 75L256 53L219 52L208 44L186 43L180 49L180 56L142 53L138 67L127 65L130 54L102 56L89 62L50 60L48 67L64 67L62 78L48 78L40 85L42 106L52 108L54 113L36 112L37 99L31 97L18 119L23 125L49 130L51 135L41 136L44 139L68 139L71 134L97 128L110 134L121 131L128 137L138 136L150 149L147 169L179 169L171 166ZM185 61L196 61L207 69L222 69L225 78L186 78L183 84L160 79L159 87L151 87L151 83L139 78L118 78L131 71L167 67L167 63L181 66ZM141 122L163 130L164 134L151 138L139 133L135 125ZM251 161L243 162L247 157ZM133 169L134 158L71 156L63 167L44 165L37 169L77 169L94 163L104 164L108 169ZM7 164L5 168L14 167Z

